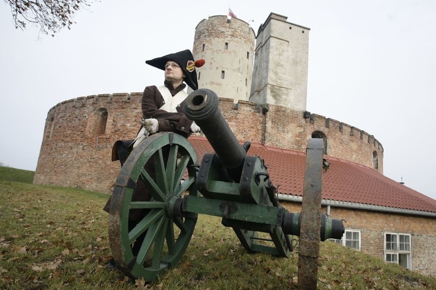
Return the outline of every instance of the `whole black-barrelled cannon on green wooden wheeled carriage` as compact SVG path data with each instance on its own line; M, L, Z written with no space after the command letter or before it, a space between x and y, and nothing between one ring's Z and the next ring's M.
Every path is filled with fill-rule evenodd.
M114 260L124 273L152 281L175 266L188 246L199 213L221 217L222 224L232 228L250 252L289 257L293 250L289 235L306 234L318 240L318 246L319 240L342 237L342 220L319 213L320 192L319 209L306 211L306 216L304 211L290 213L280 206L264 160L247 155L250 142L238 142L213 91L192 92L184 109L215 152L206 153L199 164L187 139L159 132L130 153L114 184L108 229ZM321 176L315 174L313 180L308 164L317 172L322 168L322 142L320 147L318 141L309 141L305 177L308 188L315 189L320 188ZM321 148L321 154L312 147ZM155 174L146 170L150 166ZM147 197L134 198L144 186ZM142 211L136 222L129 221L133 211ZM308 218L316 220L315 230L304 224Z

